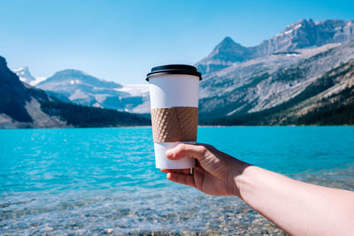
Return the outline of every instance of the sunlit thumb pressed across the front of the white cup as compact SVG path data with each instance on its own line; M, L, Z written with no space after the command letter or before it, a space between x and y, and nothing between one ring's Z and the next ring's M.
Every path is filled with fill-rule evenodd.
M181 143L175 148L171 148L166 151L165 156L172 160L179 160L184 157L194 157L197 160L201 160L205 156L207 148L203 145L192 145Z

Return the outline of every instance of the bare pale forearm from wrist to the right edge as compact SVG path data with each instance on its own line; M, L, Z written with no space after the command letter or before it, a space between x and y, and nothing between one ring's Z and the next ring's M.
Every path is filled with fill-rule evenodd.
M290 234L352 235L354 194L249 166L235 176L239 196Z

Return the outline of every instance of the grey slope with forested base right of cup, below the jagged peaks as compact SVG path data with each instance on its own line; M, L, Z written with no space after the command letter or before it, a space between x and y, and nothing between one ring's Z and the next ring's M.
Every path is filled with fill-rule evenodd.
M353 124L348 110L342 123L335 118L323 123L312 118L312 123L306 123L311 119L305 117L339 109L338 101L352 105L354 40L295 52L258 57L205 74L199 102L201 123ZM317 86L325 83L321 81L330 86Z

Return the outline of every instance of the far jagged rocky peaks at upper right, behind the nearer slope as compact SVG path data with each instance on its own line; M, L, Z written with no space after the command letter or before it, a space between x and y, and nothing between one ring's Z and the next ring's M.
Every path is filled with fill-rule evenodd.
M280 34L254 47L243 47L226 37L196 64L202 73L217 72L229 65L266 57L272 54L294 53L296 49L320 47L328 43L348 42L354 39L354 21L301 19L286 27Z

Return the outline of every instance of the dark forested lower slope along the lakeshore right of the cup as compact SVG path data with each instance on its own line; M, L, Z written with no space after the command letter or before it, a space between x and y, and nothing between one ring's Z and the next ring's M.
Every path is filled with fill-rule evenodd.
M272 108L201 118L204 125L354 125L354 59L312 80L302 92Z

